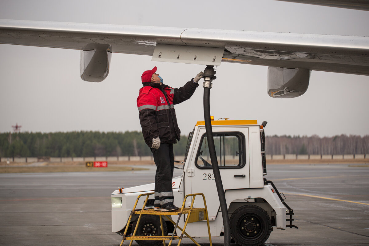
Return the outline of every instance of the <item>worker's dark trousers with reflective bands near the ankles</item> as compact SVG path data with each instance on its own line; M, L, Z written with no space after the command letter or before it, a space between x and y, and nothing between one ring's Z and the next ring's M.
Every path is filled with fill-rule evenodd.
M151 148L151 152L156 165L154 206L164 208L174 202L172 190L173 144L161 143L159 149Z

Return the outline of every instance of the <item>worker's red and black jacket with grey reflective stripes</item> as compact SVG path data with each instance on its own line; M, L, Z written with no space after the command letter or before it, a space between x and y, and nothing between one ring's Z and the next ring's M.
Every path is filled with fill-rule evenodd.
M173 89L165 84L144 82L139 90L137 107L142 135L151 148L152 139L159 137L162 143L176 143L180 139L174 104L189 99L199 84L193 79L184 86Z

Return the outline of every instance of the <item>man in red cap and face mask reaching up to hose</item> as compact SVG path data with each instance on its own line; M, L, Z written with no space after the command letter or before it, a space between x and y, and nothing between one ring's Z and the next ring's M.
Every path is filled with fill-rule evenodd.
M189 99L203 77L200 72L184 86L173 89L163 84L157 68L142 73L144 87L139 90L137 107L142 135L151 149L156 165L154 209L174 211L172 178L174 167L173 143L180 140L174 105Z

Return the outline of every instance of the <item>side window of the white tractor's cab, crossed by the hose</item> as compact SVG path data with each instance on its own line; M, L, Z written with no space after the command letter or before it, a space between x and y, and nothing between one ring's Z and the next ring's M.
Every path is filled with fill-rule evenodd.
M245 165L245 137L241 132L217 132L213 136L219 168L240 168ZM212 168L206 134L201 136L195 164L199 168Z

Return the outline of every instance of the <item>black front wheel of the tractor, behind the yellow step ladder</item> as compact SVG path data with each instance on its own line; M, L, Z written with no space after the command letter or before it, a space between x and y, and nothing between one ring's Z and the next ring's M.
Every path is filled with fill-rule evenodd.
M134 232L134 229L136 228L137 219L133 222L132 234ZM163 218L162 218L162 221L163 221L164 235L168 235L168 227ZM136 236L150 236L150 235L151 236L161 236L162 235L159 215L143 214L141 216L140 222L137 227ZM163 244L163 241L155 241L155 240L135 240L135 241L141 246L157 246L157 245Z

